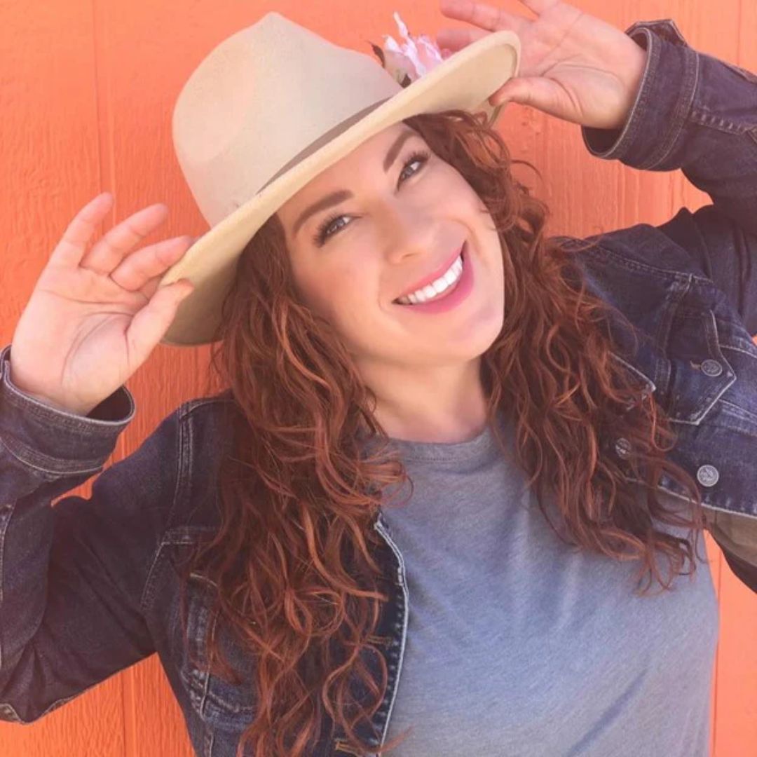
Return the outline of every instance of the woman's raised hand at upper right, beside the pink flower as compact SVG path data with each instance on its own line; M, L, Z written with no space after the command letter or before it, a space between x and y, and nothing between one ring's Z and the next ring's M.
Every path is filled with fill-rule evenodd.
M489 97L492 105L531 105L581 126L619 129L628 119L646 66L646 50L609 23L561 0L522 0L530 20L473 0L440 0L441 12L479 29L443 29L439 48L455 52L509 29L521 41L518 76Z

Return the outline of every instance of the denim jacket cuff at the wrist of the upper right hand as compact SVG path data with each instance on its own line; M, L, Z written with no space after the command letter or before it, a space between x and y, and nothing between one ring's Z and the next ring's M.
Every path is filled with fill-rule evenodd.
M581 136L596 157L646 170L681 136L696 91L697 54L672 19L637 21L625 33L647 51L634 105L621 129L581 126Z

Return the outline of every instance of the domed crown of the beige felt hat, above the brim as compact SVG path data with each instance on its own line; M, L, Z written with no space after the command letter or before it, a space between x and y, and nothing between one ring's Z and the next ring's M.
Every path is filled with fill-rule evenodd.
M173 109L176 157L205 220L219 223L400 89L375 58L275 11L224 39Z

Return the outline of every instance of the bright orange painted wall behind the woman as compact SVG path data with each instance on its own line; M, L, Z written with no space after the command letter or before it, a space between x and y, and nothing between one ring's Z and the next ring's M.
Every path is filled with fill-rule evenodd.
M532 17L517 0L494 0ZM575 0L625 30L634 20L674 18L695 48L757 71L753 0ZM398 9L411 33L445 19L435 0L313 3L238 0L6 0L0 4L0 344L73 214L105 189L117 220L157 201L170 207L160 233L199 235L202 220L173 156L170 114L186 77L221 39L276 10L343 45L396 35ZM709 198L680 171L631 170L592 157L578 126L510 104L500 126L522 171L553 209L550 232L589 235L662 223ZM577 180L578 179L578 180ZM112 458L128 455L176 405L204 392L207 348L160 345L129 380L137 415ZM92 479L73 493L89 496ZM721 606L712 691L712 755L757 754L757 596L740 584L706 537ZM670 693L675 696L675 692ZM157 656L114 675L36 724L0 724L0 757L182 757L192 755L182 715Z

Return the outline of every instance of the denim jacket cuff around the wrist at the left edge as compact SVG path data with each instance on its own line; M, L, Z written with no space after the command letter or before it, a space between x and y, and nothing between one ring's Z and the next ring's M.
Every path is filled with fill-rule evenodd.
M8 344L0 352L0 443L26 465L54 475L103 466L135 416L131 392L119 387L86 416L58 410L11 382L10 354Z

